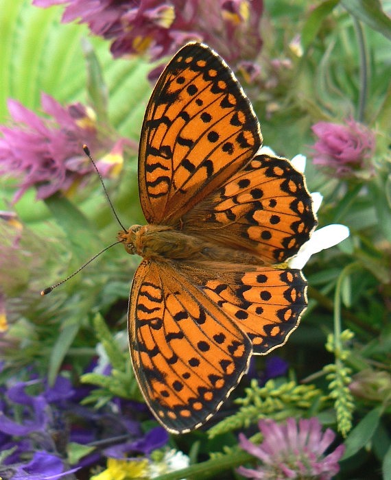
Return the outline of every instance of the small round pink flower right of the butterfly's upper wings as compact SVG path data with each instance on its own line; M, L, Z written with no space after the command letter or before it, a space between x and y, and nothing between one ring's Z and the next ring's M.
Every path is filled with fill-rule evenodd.
M375 135L365 125L353 119L344 125L320 121L312 131L318 136L313 145L313 163L341 178L368 176L367 165L375 150Z

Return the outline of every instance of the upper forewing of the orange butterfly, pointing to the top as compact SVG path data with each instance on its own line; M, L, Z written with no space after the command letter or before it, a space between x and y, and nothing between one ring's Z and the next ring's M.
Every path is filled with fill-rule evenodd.
M259 121L228 65L200 43L167 64L145 112L139 193L148 223L175 224L246 164Z

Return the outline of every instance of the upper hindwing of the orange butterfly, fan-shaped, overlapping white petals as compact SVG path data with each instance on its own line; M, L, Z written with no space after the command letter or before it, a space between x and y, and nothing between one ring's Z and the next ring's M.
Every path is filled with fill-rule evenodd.
M182 231L267 264L294 256L316 224L303 174L268 155L252 158L182 217Z

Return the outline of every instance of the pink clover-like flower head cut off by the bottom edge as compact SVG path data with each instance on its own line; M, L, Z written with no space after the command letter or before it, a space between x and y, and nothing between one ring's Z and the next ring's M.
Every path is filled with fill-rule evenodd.
M286 424L274 420L260 420L259 429L263 442L254 445L243 433L239 434L239 445L261 460L257 468L241 466L238 473L250 479L303 479L329 480L340 470L338 460L344 453L344 445L324 455L335 439L335 433L327 429L322 433L318 418L287 418Z

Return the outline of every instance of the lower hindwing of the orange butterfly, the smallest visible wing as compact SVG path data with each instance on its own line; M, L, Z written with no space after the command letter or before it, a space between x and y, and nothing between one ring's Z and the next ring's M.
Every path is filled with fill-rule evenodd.
M250 338L254 354L283 346L307 307L298 269L202 262L178 268Z

